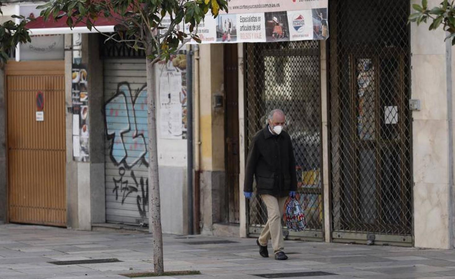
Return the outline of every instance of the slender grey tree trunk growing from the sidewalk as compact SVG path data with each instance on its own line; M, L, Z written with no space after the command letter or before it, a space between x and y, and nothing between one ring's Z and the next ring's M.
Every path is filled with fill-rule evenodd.
M148 33L148 32L146 32ZM146 55L152 55L151 34L147 36ZM149 195L150 225L153 236L153 266L157 274L164 273L163 264L163 234L161 229L161 201L160 201L160 180L158 176L158 152L157 152L157 118L155 107L155 72L152 60L147 58L147 101L148 101L148 181L152 187Z

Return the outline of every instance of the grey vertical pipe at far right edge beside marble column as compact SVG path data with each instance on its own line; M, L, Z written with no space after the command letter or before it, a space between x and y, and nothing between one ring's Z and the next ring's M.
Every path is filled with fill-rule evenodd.
M450 35L447 32L447 35ZM452 44L451 40L445 41L445 65L446 65L446 84L447 84L447 126L449 127L448 131L448 144L449 144L449 194L448 194L448 204L449 204L449 249L454 248L454 204L453 204L453 187L454 187L454 142L453 142L453 115L452 115Z

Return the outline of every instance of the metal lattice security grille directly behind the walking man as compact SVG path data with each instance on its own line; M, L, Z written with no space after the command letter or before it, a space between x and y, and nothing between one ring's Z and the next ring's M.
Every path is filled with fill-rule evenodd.
M245 129L247 145L265 127L272 109L286 114L297 164L298 199L308 230L290 237L323 239L319 41L246 44ZM254 186L255 187L255 186ZM249 233L261 232L267 209L259 196L249 203Z

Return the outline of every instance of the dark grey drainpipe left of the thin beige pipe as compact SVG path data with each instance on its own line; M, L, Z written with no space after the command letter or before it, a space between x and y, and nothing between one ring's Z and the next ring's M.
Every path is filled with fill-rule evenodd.
M193 234L193 51L191 45L187 52L187 198L188 234Z

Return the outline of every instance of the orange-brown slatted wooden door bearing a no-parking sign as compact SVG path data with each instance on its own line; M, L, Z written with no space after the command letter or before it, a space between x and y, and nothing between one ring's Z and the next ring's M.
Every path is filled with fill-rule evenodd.
M64 61L6 66L9 222L66 226L64 77Z

